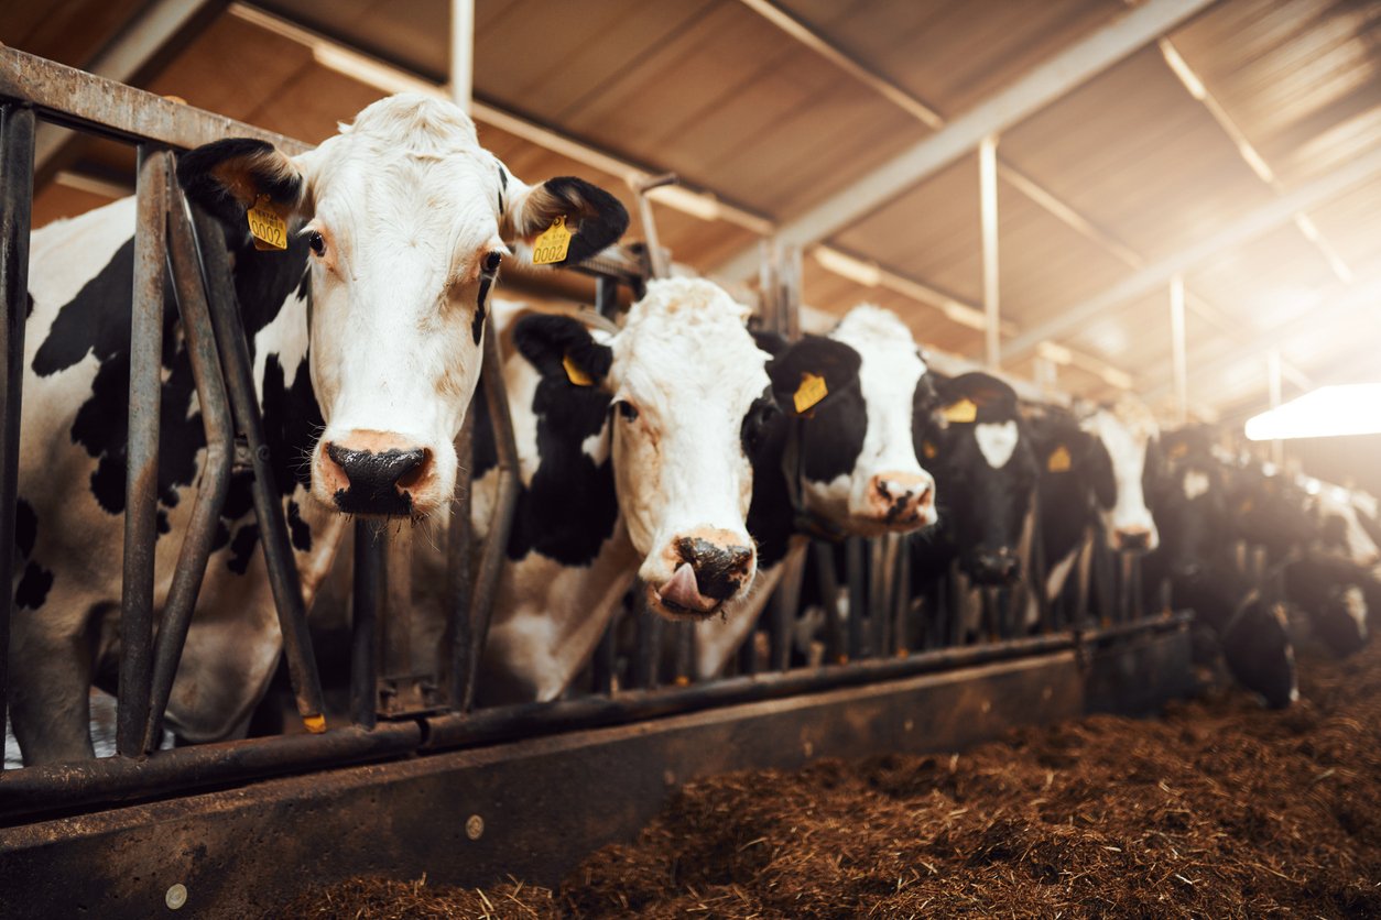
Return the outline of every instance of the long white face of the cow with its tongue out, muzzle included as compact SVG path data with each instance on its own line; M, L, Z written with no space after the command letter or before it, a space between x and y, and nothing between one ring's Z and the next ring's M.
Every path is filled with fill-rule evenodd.
M613 339L619 509L644 556L648 603L668 617L715 612L757 572L742 429L768 388L768 354L747 316L708 281L652 281Z

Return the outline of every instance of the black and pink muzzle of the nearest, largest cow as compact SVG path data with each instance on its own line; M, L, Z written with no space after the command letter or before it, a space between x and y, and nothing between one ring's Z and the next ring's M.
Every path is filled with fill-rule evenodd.
M318 495L345 514L423 517L435 505L432 451L387 432L323 440L315 474Z

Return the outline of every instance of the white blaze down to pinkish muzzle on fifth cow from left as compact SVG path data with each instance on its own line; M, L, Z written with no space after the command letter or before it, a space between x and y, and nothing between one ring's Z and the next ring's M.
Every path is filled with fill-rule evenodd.
M1117 498L1112 508L1099 509L1109 546L1114 550L1156 549L1160 534L1143 488L1148 448L1160 436L1150 410L1124 397L1113 408L1094 412L1081 428L1098 436L1112 459Z

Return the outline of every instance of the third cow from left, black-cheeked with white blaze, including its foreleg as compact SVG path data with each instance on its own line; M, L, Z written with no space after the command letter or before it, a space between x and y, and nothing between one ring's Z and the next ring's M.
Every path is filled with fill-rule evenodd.
M764 437L749 532L760 589L732 617L696 623L695 672L720 673L757 625L787 553L811 537L880 537L935 524L935 479L917 457L913 411L931 397L925 359L898 316L851 309L829 335L760 335L780 414ZM918 396L920 394L920 396Z

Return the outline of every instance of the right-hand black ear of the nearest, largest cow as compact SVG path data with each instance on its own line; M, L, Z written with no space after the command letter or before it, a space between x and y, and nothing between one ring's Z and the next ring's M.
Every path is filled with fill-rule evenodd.
M505 170L503 233L533 246L539 236L562 223L570 233L559 258L536 258L543 265L576 265L599 250L613 246L628 229L628 211L603 189L563 175L541 185L525 185ZM543 247L544 248L544 247Z

